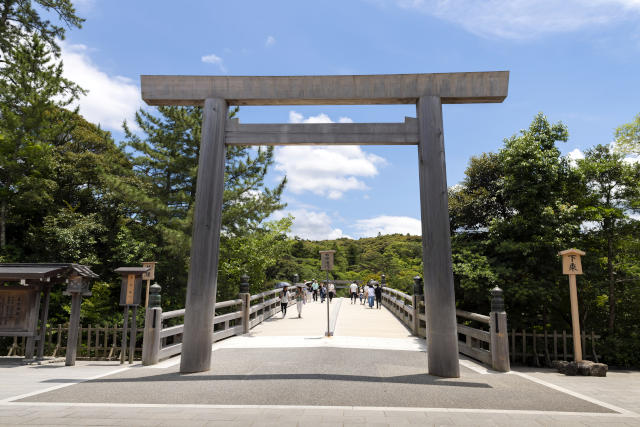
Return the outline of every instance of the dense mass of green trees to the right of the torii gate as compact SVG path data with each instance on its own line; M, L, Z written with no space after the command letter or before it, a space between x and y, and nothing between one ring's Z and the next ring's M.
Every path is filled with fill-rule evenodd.
M462 185L449 190L458 304L486 312L497 284L510 327L569 329L557 252L583 249L582 328L605 336L609 363L637 366L638 353L623 347L634 348L640 323L639 166L599 145L572 167L556 146L567 137L538 114L497 154L472 158Z

